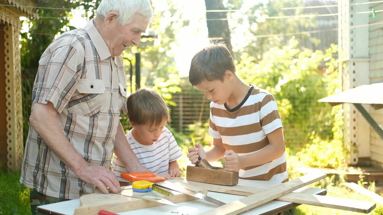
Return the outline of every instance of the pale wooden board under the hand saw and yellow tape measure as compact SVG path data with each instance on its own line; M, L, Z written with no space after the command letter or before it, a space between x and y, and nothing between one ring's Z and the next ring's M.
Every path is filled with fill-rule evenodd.
M171 179L167 181L172 182ZM207 190L203 190L198 187L194 187L191 185L186 185L185 187L205 195L207 194ZM175 191L172 192L173 196L164 196L164 198L170 200L173 203L196 200L195 197L192 197L190 195L182 194ZM137 210L141 208L155 207L160 205L164 204L149 200L123 196L119 194L103 194L100 191L98 191L93 194L83 195L82 197L80 197L80 207L75 210L74 215L98 215L98 212L100 210L107 210L109 212L118 213L129 210Z

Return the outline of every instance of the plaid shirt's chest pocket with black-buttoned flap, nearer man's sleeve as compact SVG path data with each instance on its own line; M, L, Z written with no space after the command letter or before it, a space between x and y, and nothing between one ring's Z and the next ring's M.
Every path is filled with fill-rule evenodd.
M68 111L87 117L96 117L105 105L105 84L100 79L80 79L75 96L68 103Z

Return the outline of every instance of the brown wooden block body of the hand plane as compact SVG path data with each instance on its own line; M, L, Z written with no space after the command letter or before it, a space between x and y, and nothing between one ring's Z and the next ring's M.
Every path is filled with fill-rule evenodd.
M198 166L187 166L186 168L186 179L189 181L234 186L238 184L238 178L238 172L228 172L224 168L219 167L208 169Z

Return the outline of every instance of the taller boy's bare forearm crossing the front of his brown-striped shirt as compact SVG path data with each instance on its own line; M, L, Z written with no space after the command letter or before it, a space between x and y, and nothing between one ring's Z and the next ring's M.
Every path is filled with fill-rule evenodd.
M252 153L250 155L239 156L240 168L246 168L248 166L262 165L271 162L283 155L284 149L278 147L278 145L268 145L264 149Z

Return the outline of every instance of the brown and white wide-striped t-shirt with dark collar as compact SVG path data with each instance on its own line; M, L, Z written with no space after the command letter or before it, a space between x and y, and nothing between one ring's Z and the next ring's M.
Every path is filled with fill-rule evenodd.
M267 134L282 128L274 96L251 85L244 100L235 108L210 103L209 134L222 138L226 150L239 156L258 152L269 145ZM286 152L271 162L239 170L239 177L252 180L285 182L288 180Z

